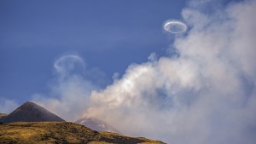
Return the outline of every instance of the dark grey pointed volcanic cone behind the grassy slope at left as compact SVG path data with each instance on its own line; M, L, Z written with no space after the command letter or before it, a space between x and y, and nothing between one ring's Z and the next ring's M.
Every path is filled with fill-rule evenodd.
M65 121L56 116L54 113L49 112L44 107L27 101L22 106L15 109L8 116L1 119L3 123L13 122L45 122L45 121Z

